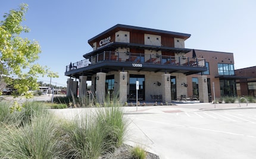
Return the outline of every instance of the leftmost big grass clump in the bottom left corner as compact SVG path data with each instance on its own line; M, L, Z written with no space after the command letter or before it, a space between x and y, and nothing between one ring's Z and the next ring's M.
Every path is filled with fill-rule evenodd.
M0 158L57 158L61 155L57 131L58 124L49 113L33 116L21 128L6 126L0 132Z

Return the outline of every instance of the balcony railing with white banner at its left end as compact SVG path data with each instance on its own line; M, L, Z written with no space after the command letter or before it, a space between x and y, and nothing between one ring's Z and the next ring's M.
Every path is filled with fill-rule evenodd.
M151 63L155 65L176 65L176 66L198 66L205 67L205 59L192 58L186 56L166 56L166 55L149 55L145 53L130 53L130 52L102 52L95 56L91 56L90 60L70 63L66 66L66 72L73 69L83 68L89 65L94 65L99 62L133 62L133 63Z

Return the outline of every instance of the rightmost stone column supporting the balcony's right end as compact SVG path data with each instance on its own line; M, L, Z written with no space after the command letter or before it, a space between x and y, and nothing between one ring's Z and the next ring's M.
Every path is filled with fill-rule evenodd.
M208 103L208 87L207 76L201 75L198 77L198 89L199 89L199 101L202 103Z

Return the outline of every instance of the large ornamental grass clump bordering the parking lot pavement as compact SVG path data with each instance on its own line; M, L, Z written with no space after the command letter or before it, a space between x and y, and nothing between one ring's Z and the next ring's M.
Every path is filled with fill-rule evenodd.
M120 107L103 107L95 111L82 112L65 124L66 158L96 159L123 144L126 122Z

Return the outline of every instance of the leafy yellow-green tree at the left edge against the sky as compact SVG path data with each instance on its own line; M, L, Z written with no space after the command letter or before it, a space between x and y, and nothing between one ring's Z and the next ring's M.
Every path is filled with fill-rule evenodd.
M15 80L5 81L13 85L18 94L31 97L29 90L38 89L37 78L39 75L58 77L46 66L35 63L41 52L39 43L20 37L21 33L28 33L29 28L22 26L26 20L25 14L28 5L21 4L18 9L12 9L0 21L0 74L16 77ZM1 78L1 82L4 78Z

